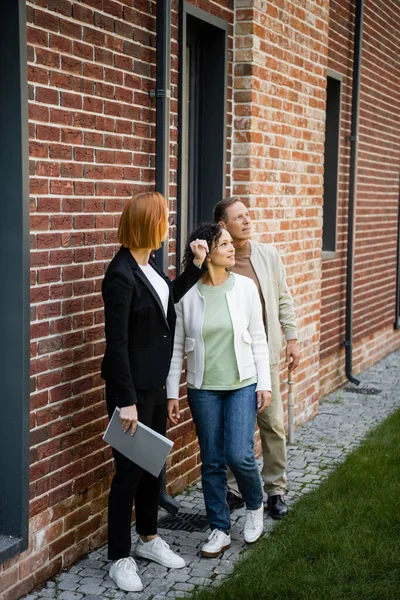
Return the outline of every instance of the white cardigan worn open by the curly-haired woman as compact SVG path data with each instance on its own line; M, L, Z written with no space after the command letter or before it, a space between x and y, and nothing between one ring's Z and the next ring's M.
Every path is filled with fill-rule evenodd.
M248 277L235 278L226 293L232 320L235 355L239 379L257 375L257 390L271 390L267 338L262 319L257 286ZM204 375L204 341L202 336L205 302L197 285L175 305L177 321L174 353L167 379L168 398L179 398L179 383L184 354L187 354L187 381L201 388Z

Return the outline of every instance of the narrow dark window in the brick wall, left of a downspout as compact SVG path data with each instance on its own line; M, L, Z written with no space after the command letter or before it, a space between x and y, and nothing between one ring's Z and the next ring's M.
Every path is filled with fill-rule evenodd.
M323 258L336 256L342 76L328 71L324 161Z

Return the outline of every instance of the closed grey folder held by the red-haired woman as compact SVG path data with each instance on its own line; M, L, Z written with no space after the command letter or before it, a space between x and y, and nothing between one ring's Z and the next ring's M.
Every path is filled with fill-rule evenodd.
M130 429L125 433L119 412L120 409L117 407L103 435L103 440L139 467L158 477L174 443L140 421L133 435Z

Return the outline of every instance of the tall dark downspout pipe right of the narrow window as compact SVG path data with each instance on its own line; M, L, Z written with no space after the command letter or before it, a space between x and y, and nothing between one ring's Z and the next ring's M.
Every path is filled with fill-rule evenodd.
M347 270L346 270L346 377L355 385L360 381L354 377L353 358L353 297L354 297L354 242L355 242L355 203L357 189L357 154L360 113L361 56L363 41L364 0L356 0L354 22L353 86L351 102L350 170L349 170L349 209L347 229Z

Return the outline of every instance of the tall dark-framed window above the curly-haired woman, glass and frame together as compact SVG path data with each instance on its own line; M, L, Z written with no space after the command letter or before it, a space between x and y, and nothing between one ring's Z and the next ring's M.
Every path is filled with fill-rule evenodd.
M227 29L183 3L181 12L178 262L187 234L225 195Z

